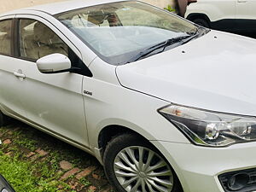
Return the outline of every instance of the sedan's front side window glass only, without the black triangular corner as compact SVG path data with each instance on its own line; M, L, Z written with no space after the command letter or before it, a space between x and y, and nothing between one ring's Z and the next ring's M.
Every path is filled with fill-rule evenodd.
M20 20L20 56L32 61L60 53L68 55L67 45L55 32L37 20Z

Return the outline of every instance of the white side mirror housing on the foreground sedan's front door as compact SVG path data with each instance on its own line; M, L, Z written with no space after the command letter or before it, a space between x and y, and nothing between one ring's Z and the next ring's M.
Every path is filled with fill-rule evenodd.
M41 73L61 73L71 68L71 61L66 55L51 54L38 59L37 66Z

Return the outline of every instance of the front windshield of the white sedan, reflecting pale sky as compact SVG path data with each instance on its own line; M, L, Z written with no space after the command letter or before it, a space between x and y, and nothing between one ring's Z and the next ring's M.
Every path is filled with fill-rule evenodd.
M103 61L113 65L130 62L154 44L199 31L187 20L136 1L101 4L55 17Z

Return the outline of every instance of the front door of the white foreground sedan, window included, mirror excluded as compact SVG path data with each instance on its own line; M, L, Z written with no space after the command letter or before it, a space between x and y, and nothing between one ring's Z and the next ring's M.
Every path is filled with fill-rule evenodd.
M45 74L36 61L45 55L67 55L73 67L83 64L79 50L49 21L33 15L17 15L17 73L23 106L32 125L71 143L88 146L82 82L78 73ZM84 66L85 67L85 66ZM82 67L83 68L83 67Z

